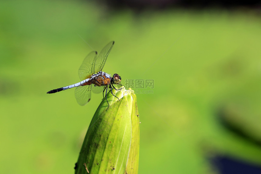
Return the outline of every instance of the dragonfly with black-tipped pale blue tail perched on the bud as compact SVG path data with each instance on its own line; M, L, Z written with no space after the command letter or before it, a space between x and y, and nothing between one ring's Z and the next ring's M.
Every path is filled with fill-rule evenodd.
M92 51L85 57L82 65L80 66L80 68L78 70L80 80L82 80L82 81L80 81L79 83L76 83L76 84L66 86L66 87L61 87L61 88L57 88L54 90L50 90L47 92L47 94L53 94L56 92L60 92L60 91L66 90L66 89L76 87L76 89L75 89L76 101L80 105L83 106L90 101L91 91L93 91L94 93L99 93L103 90L103 98L104 98L104 91L106 90L105 98L106 98L108 105L110 106L110 104L107 100L108 88L110 88L111 94L114 97L116 97L112 92L112 87L116 91L121 90L123 88L117 89L114 87L114 84L124 86L122 84L119 84L121 81L121 77L119 76L119 74L115 73L111 77L110 74L107 74L102 71L113 45L114 45L114 41L107 44L101 50L100 54L98 54L97 51ZM92 90L93 85L94 85L94 87ZM119 100L119 98L118 98L118 100Z

